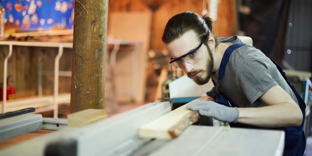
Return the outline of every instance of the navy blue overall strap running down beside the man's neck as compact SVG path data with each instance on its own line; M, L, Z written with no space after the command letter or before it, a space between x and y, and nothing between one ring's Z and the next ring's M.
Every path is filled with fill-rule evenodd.
M220 90L220 82L222 81L222 78L224 76L224 72L225 72L225 69L227 67L227 62L229 61L230 59L230 56L232 54L232 52L241 47L241 46L246 46L245 44L233 44L231 46L229 46L224 54L223 54L223 57L222 57L222 60L221 60L221 64L220 64L220 67L219 67L219 78L217 80L217 82L215 82L214 80L212 80L213 82L213 85L216 87L215 89L215 92L216 92L216 96L214 97L215 98L215 102L219 103L219 104L222 104L222 105L226 105L228 107L232 107L231 104L229 103L229 101L227 100L227 98L223 95L223 93L221 92Z

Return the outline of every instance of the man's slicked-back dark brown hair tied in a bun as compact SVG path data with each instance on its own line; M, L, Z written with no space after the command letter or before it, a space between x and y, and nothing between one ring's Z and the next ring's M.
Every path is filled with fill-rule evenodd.
M212 19L209 17L201 17L194 12L181 12L169 19L166 24L165 30L163 31L162 41L166 44L172 42L173 40L182 36L185 32L189 30L194 30L199 41L202 38L211 33L212 34ZM213 35L213 34L212 34ZM215 38L216 46L220 43L220 40ZM204 42L207 45L208 37Z

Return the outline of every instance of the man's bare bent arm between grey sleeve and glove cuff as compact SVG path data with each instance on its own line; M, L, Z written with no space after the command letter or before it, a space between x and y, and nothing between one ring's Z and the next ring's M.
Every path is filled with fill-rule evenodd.
M279 85L273 86L259 99L268 106L238 108L237 122L268 128L300 126L302 112L299 106Z

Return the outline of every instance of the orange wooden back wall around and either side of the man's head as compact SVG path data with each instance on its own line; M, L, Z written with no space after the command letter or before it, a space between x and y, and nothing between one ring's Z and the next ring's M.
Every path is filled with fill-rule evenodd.
M163 30L173 15L192 11L201 15L203 0L167 0L154 12L154 30L152 30L152 49L161 54L165 45L161 41ZM234 7L233 7L234 6ZM115 0L109 2L109 21L111 12L151 12L141 0ZM215 32L218 37L235 35L237 32L236 0L222 0L218 4ZM113 29L109 27L109 29Z

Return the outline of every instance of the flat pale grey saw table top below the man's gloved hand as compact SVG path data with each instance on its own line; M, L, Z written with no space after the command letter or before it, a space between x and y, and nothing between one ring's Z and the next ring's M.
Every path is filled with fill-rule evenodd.
M277 130L191 125L182 135L149 155L282 155L285 133Z

